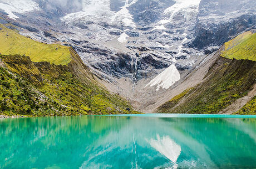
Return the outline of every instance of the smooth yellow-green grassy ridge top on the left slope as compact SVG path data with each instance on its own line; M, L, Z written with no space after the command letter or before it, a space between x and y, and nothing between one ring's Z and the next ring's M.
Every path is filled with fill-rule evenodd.
M49 62L55 65L67 65L71 62L70 47L37 42L1 24L0 28L0 54L26 55L32 62Z

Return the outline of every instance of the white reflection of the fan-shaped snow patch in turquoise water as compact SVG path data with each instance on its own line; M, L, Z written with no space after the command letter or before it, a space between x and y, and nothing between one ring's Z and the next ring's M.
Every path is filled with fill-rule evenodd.
M157 151L159 151L162 155L167 157L170 161L172 161L174 163L173 168L178 167L176 161L180 156L181 147L180 145L176 144L175 141L170 139L169 136L160 137L159 135L157 135L157 139L150 139L149 144Z

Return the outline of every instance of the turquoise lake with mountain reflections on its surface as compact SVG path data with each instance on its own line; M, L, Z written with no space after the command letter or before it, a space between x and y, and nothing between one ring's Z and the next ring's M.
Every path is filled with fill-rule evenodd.
M256 168L256 116L0 119L0 168Z

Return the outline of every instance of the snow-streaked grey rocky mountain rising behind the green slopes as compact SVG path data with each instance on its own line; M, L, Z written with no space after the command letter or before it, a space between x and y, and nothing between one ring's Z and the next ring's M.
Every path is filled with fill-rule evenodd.
M22 35L72 46L107 88L132 100L164 94L255 28L256 1L0 0L0 17Z

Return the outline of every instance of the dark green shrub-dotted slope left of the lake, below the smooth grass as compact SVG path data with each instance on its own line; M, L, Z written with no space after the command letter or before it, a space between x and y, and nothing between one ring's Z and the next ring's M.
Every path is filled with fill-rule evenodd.
M77 71L71 71L72 66L33 63L29 57L21 55L0 55L0 59L2 114L48 116L136 113L120 96L110 94L93 80L78 78Z

